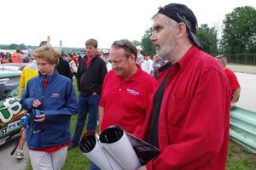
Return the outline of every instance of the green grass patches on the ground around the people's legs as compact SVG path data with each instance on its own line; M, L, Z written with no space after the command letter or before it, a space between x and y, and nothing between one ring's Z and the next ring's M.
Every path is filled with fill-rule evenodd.
M75 87L76 83L75 83ZM78 94L77 88L75 88L76 94ZM86 119L88 120L88 118ZM75 125L77 122L77 115L71 117L70 127L71 133L75 131ZM86 131L86 124L84 125L84 131ZM89 159L82 154L79 147L69 150L67 152L67 159L62 167L62 170L86 170L89 166ZM230 140L228 161L226 163L226 170L255 170L256 169L256 154L249 153L241 145L236 144ZM29 163L26 170L32 170Z

